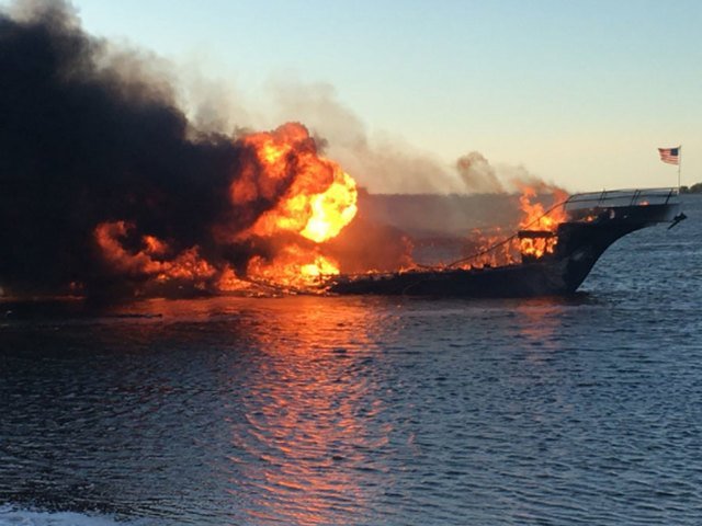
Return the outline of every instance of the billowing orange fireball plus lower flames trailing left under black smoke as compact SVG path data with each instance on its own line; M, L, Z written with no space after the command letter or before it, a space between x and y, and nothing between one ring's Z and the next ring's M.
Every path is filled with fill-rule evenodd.
M315 140L301 124L251 134L239 144L242 159L229 199L251 226L244 231L228 225L212 229L223 244L262 239L267 255L250 255L246 276L237 275L227 262L205 260L197 245L177 253L157 237L137 233L136 225L117 220L98 225L93 233L115 274L139 283L186 283L226 291L245 288L248 279L304 288L339 274L339 264L322 248L356 214L353 179L317 155Z

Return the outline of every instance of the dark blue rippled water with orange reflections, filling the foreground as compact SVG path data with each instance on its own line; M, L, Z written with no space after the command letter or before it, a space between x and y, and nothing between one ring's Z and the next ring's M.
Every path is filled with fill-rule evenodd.
M702 201L568 299L4 305L0 524L702 521Z

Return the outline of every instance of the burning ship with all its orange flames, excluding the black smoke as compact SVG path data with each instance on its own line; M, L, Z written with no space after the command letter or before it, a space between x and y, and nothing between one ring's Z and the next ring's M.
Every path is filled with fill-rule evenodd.
M423 265L414 261L411 239L400 230L377 236L385 227L356 217L355 181L337 163L318 156L304 126L288 123L272 132L249 134L231 148L238 156L234 175L218 186L197 186L226 197L223 211L201 226L199 241L179 239L173 233L179 231L177 225L154 224L150 195L144 196L148 206L137 208L138 215L129 208L122 210L123 217L97 214L94 226L80 221L87 230L77 237L76 258L55 266L56 274L48 274L56 278L58 290L64 290L59 294L107 300L286 294L567 295L619 238L684 219L676 188L569 197L553 190L551 198L557 204L545 210L536 190L524 186L519 198L523 219L513 235L478 232L477 241L472 240L478 247L474 253L450 264ZM179 203L186 196L172 198ZM170 217L168 208L160 213L158 219ZM143 222L159 228L145 231ZM171 233L162 236L159 230ZM349 231L353 233L344 233ZM50 244L45 248L53 250ZM361 262L364 249L373 255ZM82 254L92 258L86 260ZM68 282L72 275L78 278ZM81 276L90 279L81 281ZM61 278L68 283L63 289Z

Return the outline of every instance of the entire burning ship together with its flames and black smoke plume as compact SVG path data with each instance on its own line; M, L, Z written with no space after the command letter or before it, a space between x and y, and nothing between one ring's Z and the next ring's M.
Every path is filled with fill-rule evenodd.
M138 54L42 5L0 13L2 298L569 294L616 239L684 217L675 190L555 192L544 210L524 187L517 233L421 265L401 228L356 214L305 126L199 130Z

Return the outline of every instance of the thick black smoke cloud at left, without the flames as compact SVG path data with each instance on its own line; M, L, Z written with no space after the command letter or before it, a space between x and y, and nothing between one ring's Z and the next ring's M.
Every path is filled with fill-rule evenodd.
M117 279L95 245L105 221L136 225L173 255L196 244L208 261L236 263L236 249L219 253L212 226L256 219L228 198L250 153L199 135L168 83L135 73L148 70L144 59L110 59L69 5L21 7L30 14L0 13L0 286L60 294Z

